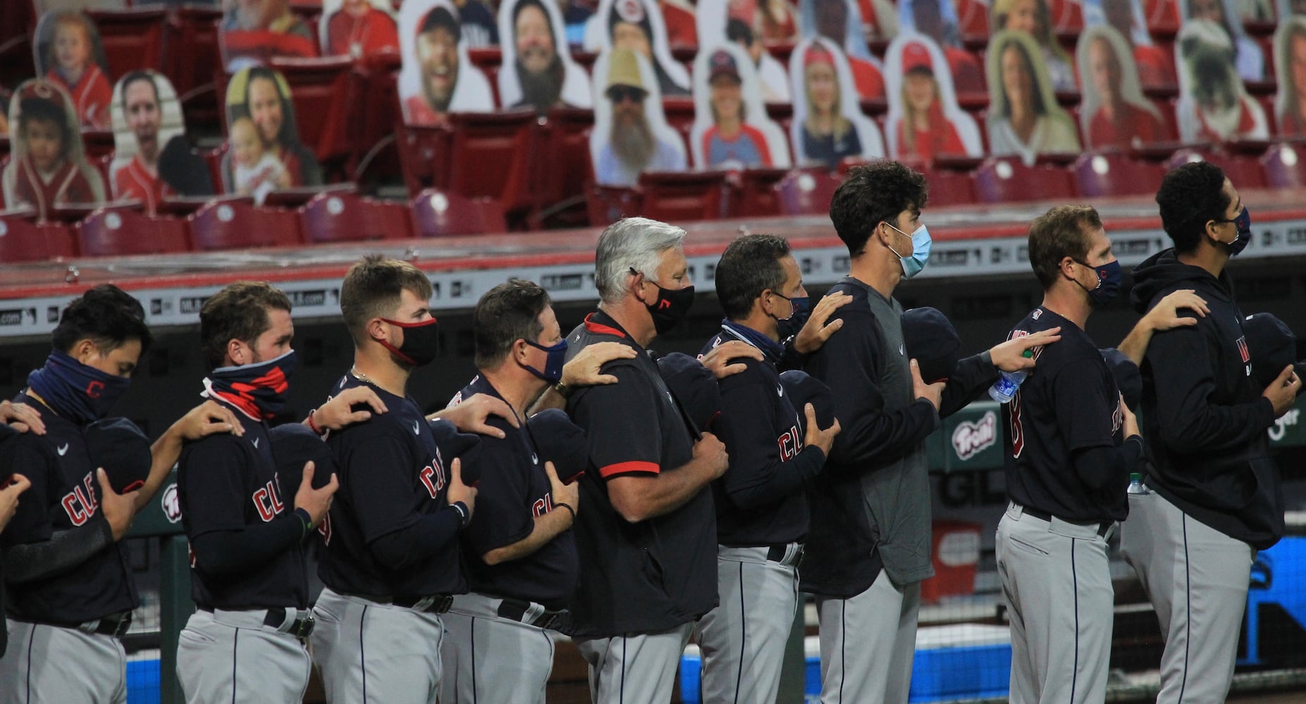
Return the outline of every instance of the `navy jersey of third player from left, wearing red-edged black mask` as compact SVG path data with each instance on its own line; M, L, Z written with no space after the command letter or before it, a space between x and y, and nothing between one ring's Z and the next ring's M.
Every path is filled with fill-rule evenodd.
M448 508L449 476L430 424L411 396L396 396L353 374L342 377L336 391L355 386L368 386L389 411L326 438L336 452L340 488L319 527L326 541L319 576L349 594L407 598L466 592L456 515L449 510L439 516L452 521L449 529L424 529ZM409 557L404 565L388 558L393 545L379 549L396 536L409 542L401 546Z

